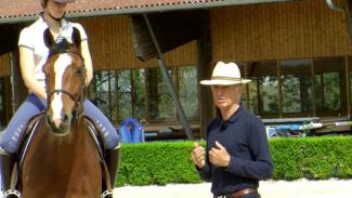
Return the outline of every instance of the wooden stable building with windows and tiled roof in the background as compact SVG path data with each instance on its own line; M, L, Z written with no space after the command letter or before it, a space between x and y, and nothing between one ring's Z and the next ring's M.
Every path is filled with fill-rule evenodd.
M218 61L238 63L243 75L252 79L242 104L262 119L349 119L350 4L350 0L76 0L68 4L67 16L81 23L89 36L95 77L88 96L116 126L134 117L148 132L199 138L216 109L210 89L198 81L211 76ZM31 0L0 5L3 126L26 96L18 34L40 10L40 3Z

